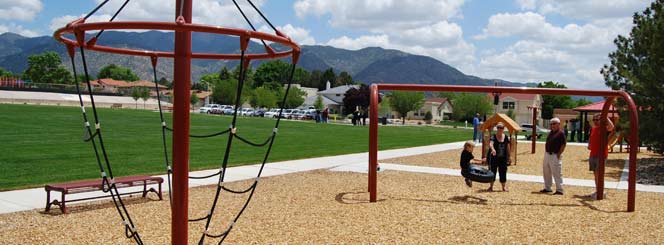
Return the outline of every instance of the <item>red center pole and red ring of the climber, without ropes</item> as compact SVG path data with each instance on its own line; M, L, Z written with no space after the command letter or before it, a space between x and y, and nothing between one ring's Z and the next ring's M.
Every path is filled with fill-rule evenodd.
M202 32L219 35L239 37L240 50L247 51L249 41L263 40L278 43L287 47L284 51L275 51L265 46L264 53L244 54L245 67L251 60L275 59L290 57L297 63L300 47L288 36L276 31L268 34L258 31L207 26L192 23L192 0L175 0L175 21L172 22L145 22L145 21L117 21L117 22L91 22L85 23L83 18L75 20L67 26L60 28L53 34L54 38L67 45L70 55L73 47L82 47L105 53L144 56L156 62L158 58L174 59L174 103L173 103L173 207L171 209L171 236L172 244L187 244L188 240L188 190L189 190L189 97L191 94L191 59L223 59L240 60L241 54L209 54L192 53L191 33ZM182 8L182 9L181 9ZM97 38L84 40L86 32L101 30L162 30L175 32L174 52L132 50L98 45ZM75 34L76 40L68 35Z

